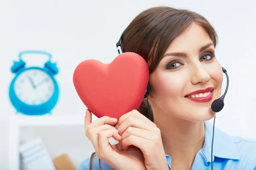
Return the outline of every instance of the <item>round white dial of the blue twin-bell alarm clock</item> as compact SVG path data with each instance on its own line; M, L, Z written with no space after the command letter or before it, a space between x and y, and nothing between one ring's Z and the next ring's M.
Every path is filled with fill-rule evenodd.
M40 105L51 98L54 84L46 72L29 69L17 77L14 91L22 102L28 105Z

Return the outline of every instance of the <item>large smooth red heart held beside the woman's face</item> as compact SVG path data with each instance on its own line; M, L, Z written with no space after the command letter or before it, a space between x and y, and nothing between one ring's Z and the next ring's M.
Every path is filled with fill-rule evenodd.
M73 74L76 92L98 118L119 119L138 109L148 85L148 64L139 54L125 52L111 63L96 59L81 62Z

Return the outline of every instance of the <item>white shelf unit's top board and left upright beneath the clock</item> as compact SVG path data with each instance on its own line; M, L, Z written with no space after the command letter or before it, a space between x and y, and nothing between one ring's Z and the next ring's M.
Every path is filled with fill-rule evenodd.
M26 116L15 114L11 116L9 124L9 170L19 170L20 156L20 128L22 127L60 127L60 126L84 126L84 116L79 115L42 115ZM92 115L92 122L98 119Z

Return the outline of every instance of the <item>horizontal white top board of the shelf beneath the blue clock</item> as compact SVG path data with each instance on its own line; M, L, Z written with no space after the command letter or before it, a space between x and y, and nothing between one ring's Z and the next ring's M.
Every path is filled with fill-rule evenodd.
M84 125L84 115L74 116L26 116L14 115L12 116L14 122L19 127L27 126L69 126L69 125Z

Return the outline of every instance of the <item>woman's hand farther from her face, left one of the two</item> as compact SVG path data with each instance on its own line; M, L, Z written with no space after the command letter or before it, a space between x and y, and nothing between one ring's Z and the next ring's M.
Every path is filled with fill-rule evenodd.
M96 155L115 170L146 170L143 153L139 148L130 146L126 150L119 150L109 143L111 137L116 141L121 140L118 130L113 127L116 123L117 119L108 116L92 122L91 112L86 111L85 135L92 142Z

